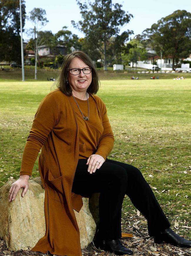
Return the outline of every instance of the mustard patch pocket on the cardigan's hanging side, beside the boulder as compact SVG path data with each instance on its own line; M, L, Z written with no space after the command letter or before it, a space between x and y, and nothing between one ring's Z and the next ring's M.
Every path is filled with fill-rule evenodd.
M48 170L48 188L53 200L63 203L63 184L62 176L54 179L50 170Z

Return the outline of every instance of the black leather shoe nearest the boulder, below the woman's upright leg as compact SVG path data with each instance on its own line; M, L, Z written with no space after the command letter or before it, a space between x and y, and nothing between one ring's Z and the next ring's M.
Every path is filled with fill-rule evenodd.
M113 239L113 240L94 240L94 245L96 248L100 248L107 252L114 252L116 255L132 255L133 252L123 246L119 239Z

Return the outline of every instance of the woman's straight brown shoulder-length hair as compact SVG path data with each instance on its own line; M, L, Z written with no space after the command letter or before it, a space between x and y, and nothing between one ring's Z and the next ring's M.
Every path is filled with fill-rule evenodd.
M100 81L98 78L98 73L94 67L93 61L91 58L82 51L74 51L73 53L67 54L64 58L64 61L61 66L61 72L58 74L56 78L56 87L60 88L60 90L66 94L67 96L72 95L72 89L70 85L67 83L67 76L68 76L68 68L71 63L71 61L78 57L83 61L87 66L91 67L91 73L92 73L92 81L90 86L87 89L87 92L90 94L96 94L98 92L98 89L100 87Z

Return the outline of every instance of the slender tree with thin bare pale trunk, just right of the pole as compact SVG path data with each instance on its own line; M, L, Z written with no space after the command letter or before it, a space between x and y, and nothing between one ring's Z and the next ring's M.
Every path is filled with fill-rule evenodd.
M38 61L38 45L39 45L39 31L46 25L48 20L46 19L46 11L41 8L34 8L30 13L29 19L34 25L34 42L35 42L35 73L34 79L37 80L37 61Z

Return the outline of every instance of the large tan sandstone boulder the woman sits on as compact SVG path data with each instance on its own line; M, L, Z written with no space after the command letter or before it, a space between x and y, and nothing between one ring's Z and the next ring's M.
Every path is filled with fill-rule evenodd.
M19 190L14 201L9 202L9 190L14 179L0 188L0 237L9 250L27 250L34 247L45 235L44 188L40 177L29 179L29 188L24 198ZM81 249L93 240L96 232L99 193L83 198L80 212L74 210L80 229Z

